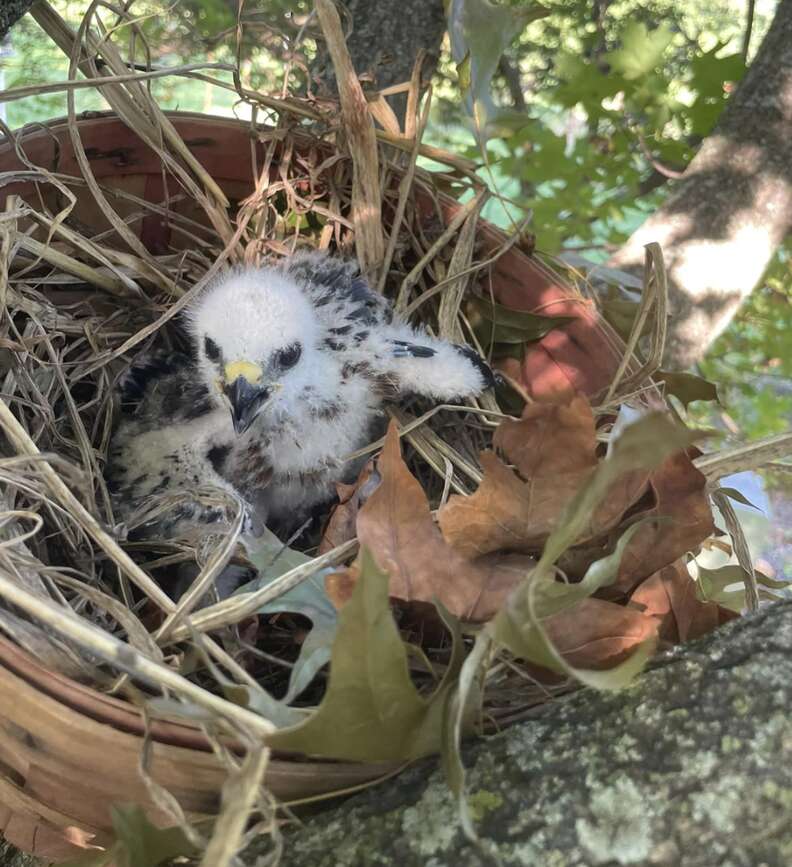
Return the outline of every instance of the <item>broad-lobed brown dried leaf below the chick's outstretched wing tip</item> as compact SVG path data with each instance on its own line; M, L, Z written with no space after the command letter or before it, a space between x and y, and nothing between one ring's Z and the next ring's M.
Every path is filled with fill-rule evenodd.
M478 490L451 497L438 514L446 541L465 557L541 548L598 463L594 416L580 396L566 405L530 404L519 421L500 425L494 445L514 470L493 452L482 452ZM643 471L617 479L579 541L616 526L647 479Z

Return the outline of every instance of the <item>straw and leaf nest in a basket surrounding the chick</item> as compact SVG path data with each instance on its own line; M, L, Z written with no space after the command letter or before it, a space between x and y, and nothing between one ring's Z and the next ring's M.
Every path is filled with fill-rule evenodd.
M72 57L68 86L83 86L79 68L113 111L6 129L0 148L0 630L10 639L0 659L19 679L15 689L33 684L59 712L101 718L114 734L97 730L96 743L108 752L131 735L160 751L212 745L224 772L242 781L224 815L233 807L269 817L258 788L265 773L276 795L299 802L439 749L442 707L467 706L459 697L469 698L471 678L460 667L471 647L483 686L479 728L494 730L580 680L614 671L613 683L623 679L658 635L672 643L729 616L685 583L686 553L714 532L692 438L660 412L650 420L665 421L643 430L632 459L611 436L632 418L619 409L625 402L635 417L663 406L650 378L665 322L656 252L625 347L585 284L534 251L524 226L505 233L481 219L492 194L474 167L422 143L417 75L405 130L381 95L367 102L352 78L340 120L330 103L274 99L239 81L240 99L273 125L166 115L144 84L161 72L130 71L114 42L92 41L88 28L75 36L57 20L42 23ZM422 168L422 157L436 168ZM251 550L239 544L239 521L219 538L129 541L103 476L119 378L140 353L185 346L180 311L223 268L305 247L357 256L404 316L492 360L497 390L461 406L390 406L381 457L299 544L264 537ZM659 311L640 362L632 350L652 303ZM375 458L382 447L366 451ZM606 449L623 460L618 479L601 471ZM658 520L668 514L681 529ZM519 587L545 569L554 545L548 586L578 590L544 610L541 594L522 598ZM606 560L610 580L596 583L592 564ZM258 578L212 598L231 561L253 565ZM162 587L184 563L200 572L173 600ZM369 655L379 669L366 674L360 660ZM372 711L388 688L406 714L395 715L398 737L388 714L383 722ZM20 700L22 717L3 710L6 728L33 726L34 705ZM460 718L458 732L469 722ZM27 785L41 821L63 831L68 822L45 807L65 816L66 795L48 803L46 786L26 783L12 741L7 731L0 744L6 782L15 797ZM292 764L267 770L265 741ZM305 755L370 764L361 773L301 764ZM180 761L181 753L162 760L172 773L152 772L145 758L123 772L109 761L108 773L136 774L135 798L150 815L190 827L178 802L192 816L216 812L222 777L201 766L204 794L214 795L191 801ZM179 787L175 800L165 792ZM109 839L107 809L73 819L88 836L72 835L66 850L90 835ZM241 833L240 825L226 839Z

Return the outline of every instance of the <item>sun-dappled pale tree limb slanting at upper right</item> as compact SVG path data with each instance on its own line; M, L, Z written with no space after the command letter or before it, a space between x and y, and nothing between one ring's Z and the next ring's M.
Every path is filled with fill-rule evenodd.
M666 366L703 357L792 229L792 0L775 19L715 132L671 197L608 262L631 270L663 247L672 321Z

